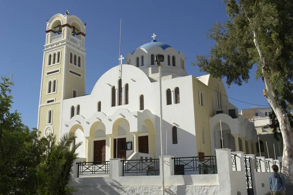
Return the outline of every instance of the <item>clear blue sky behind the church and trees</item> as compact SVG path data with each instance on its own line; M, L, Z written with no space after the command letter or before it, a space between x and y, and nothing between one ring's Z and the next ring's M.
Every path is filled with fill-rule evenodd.
M86 94L108 69L118 65L119 28L122 24L121 53L126 57L140 45L156 39L167 43L186 57L189 75L200 76L191 62L207 55L213 40L209 28L227 19L221 0L1 0L0 76L13 70L13 109L18 110L30 128L37 126L46 20L58 13L76 15L86 22ZM228 96L268 105L262 81L251 79L242 86L232 85ZM252 105L230 99L241 109Z

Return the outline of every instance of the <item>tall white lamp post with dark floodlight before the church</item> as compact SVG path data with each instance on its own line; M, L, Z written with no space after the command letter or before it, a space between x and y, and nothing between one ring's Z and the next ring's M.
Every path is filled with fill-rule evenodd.
M159 67L159 85L160 85L160 134L161 134L161 165L162 165L162 195L165 195L165 178L164 178L164 149L163 149L163 105L162 105L162 65L164 62L164 55L155 55L155 61Z

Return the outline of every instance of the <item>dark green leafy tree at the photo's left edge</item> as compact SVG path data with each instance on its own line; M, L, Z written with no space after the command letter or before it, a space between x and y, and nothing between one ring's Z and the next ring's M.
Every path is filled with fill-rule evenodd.
M9 78L0 83L0 194L36 194L37 166L47 145L36 129L29 130L20 113L11 112Z

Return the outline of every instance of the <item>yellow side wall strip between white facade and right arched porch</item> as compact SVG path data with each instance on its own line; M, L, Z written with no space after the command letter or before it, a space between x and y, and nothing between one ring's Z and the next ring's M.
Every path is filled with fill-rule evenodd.
M210 156L210 138L209 138L209 102L205 99L209 98L208 88L198 82L199 80L192 77L193 104L194 104L194 120L195 120L195 137L197 153L203 152L205 156ZM204 106L199 104L198 90L203 92ZM203 143L202 127L205 132L205 143Z

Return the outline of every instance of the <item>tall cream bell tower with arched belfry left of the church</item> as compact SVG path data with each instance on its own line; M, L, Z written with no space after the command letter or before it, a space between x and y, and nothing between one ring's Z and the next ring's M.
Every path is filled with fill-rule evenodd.
M63 99L85 94L85 25L69 12L47 20L38 129L60 138Z

